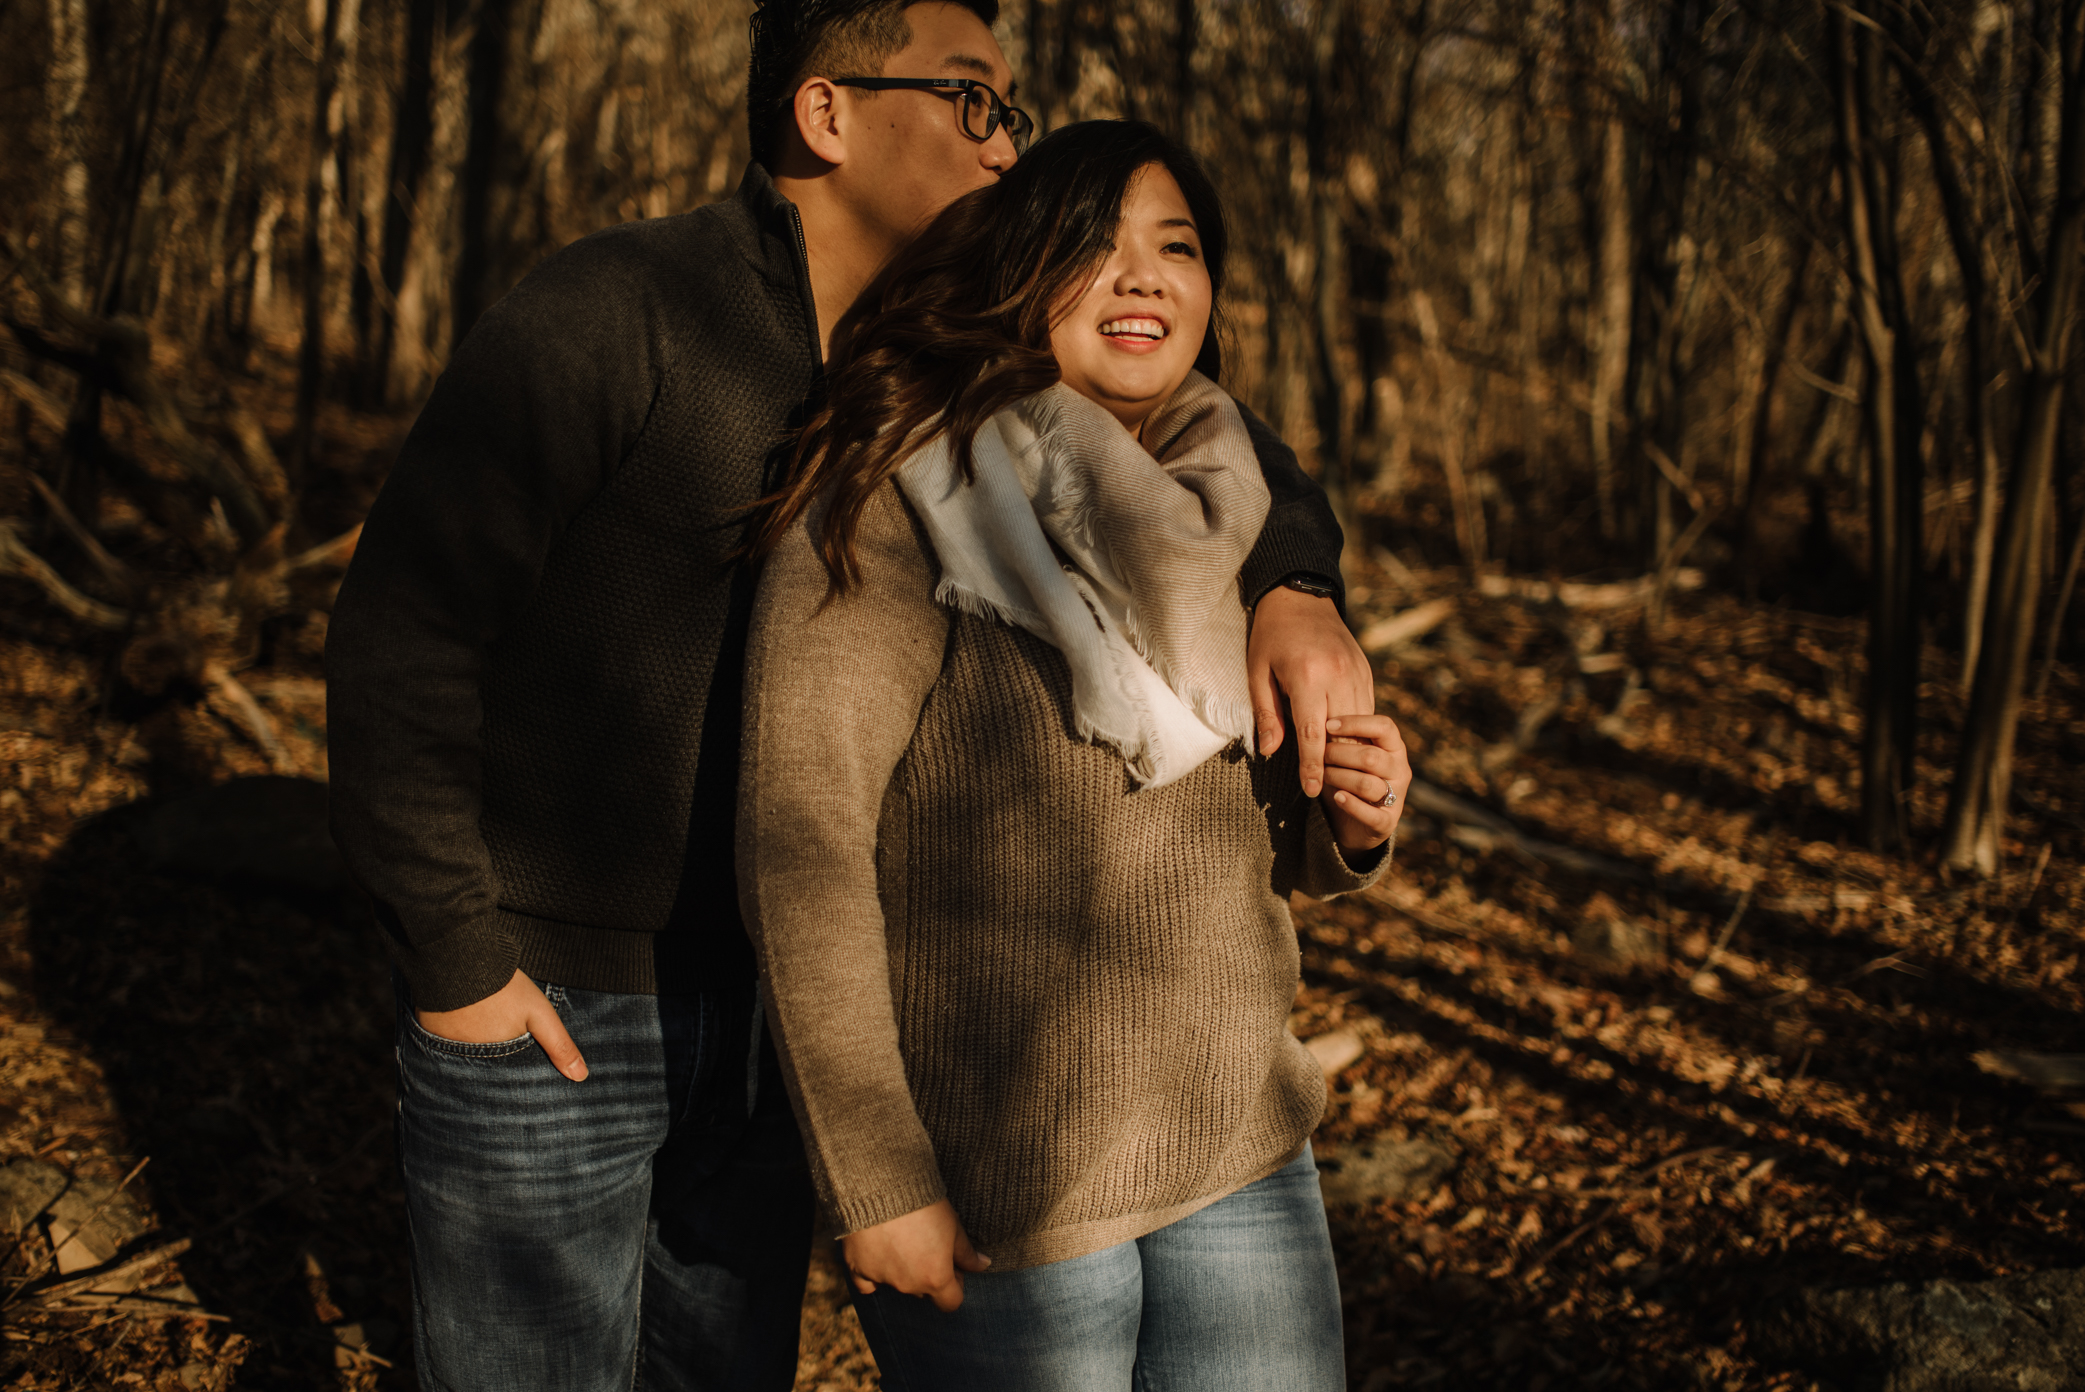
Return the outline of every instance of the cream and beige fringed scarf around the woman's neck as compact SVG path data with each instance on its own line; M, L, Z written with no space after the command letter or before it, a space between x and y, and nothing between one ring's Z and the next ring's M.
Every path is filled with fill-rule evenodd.
M942 438L899 488L940 558L934 598L1055 644L1080 738L1159 788L1251 740L1238 567L1268 486L1236 404L1199 373L1145 440L1057 383L978 431L976 483Z

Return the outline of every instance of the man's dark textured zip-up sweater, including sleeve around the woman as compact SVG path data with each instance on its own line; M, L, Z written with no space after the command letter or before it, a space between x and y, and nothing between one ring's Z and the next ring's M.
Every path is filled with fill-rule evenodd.
M803 223L726 202L550 256L457 348L327 636L334 840L413 1002L521 967L588 990L753 979L732 815L744 508L819 375ZM1339 577L1339 525L1247 417L1257 598ZM838 694L844 696L844 694Z

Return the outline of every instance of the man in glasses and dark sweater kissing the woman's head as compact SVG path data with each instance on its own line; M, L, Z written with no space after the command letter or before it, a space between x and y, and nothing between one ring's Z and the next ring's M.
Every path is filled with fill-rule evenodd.
M995 17L771 0L736 198L538 267L369 513L327 646L334 831L400 977L423 1386L792 1382L811 1200L732 879L732 552L844 313L1017 158ZM878 75L990 92L844 81ZM1330 511L1255 438L1255 704L1274 746L1286 696L1309 786L1370 681Z

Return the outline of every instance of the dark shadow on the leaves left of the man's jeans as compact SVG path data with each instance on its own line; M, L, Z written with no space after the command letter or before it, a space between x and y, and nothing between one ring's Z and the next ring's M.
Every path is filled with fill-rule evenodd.
M338 1325L400 1359L390 977L367 915L346 892L150 873L150 811L81 823L44 867L38 1000L150 1157L161 1227L196 1238L181 1275L252 1342L238 1386L332 1384Z

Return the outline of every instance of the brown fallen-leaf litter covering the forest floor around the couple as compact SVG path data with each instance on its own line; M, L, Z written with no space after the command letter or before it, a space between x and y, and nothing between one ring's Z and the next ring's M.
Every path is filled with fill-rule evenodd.
M1320 1152L1455 1159L1332 1213L1351 1386L1816 1388L1747 1346L1781 1292L2085 1261L2085 1117L1972 1063L2085 1052L2072 671L2022 721L2006 879L1945 884L1851 846L1858 621L1687 594L1649 640L1639 606L1374 579L1364 617L1453 598L1378 663L1424 777L1628 873L1414 813L1387 886L1299 900L1295 1029L1364 1044ZM15 1304L0 1388L413 1386L392 1000L361 913L142 869L154 800L261 754L206 706L117 719L77 636L0 600L0 1165L113 1184L150 1159L129 1192L194 1238L165 1282L211 1315ZM246 675L311 777L321 642L313 617ZM1931 844L1962 715L1941 652L1922 704ZM0 1217L13 1244L27 1215ZM876 1386L824 1254L803 1329L799 1388Z

